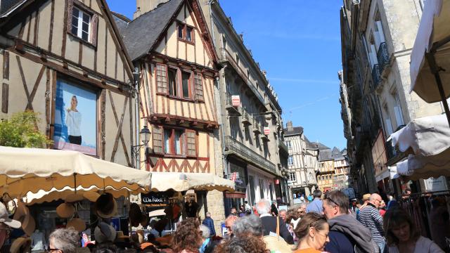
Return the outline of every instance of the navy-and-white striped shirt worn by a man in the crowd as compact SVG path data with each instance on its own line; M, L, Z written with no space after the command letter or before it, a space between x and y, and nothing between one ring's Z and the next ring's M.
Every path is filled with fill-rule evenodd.
M359 221L371 231L375 242L385 242L385 231L383 231L383 217L370 203L359 211Z

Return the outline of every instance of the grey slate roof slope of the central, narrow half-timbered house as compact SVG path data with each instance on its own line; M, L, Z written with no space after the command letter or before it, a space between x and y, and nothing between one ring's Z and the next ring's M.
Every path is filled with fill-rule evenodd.
M150 51L183 1L170 0L131 22L114 15L131 60L136 60Z

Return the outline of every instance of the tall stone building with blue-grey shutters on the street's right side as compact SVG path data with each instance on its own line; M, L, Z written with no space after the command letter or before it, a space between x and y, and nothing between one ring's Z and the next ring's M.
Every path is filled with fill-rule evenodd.
M361 179L360 193L399 192L406 186L392 181L389 169L404 155L387 138L412 119L443 112L440 103L428 104L409 93L409 60L423 1L343 2L339 75L347 93L341 103L352 177Z

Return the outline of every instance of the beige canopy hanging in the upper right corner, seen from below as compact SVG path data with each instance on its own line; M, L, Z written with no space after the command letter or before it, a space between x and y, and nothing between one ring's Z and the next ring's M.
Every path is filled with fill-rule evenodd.
M411 91L427 103L442 101L450 122L450 0L425 1L411 52Z

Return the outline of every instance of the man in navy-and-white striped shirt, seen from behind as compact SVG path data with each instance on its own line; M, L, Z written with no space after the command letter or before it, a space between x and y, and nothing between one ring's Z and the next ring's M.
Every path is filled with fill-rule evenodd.
M383 231L383 217L378 211L380 207L381 196L373 193L368 200L367 206L359 212L359 219L361 223L371 231L373 240L380 247L380 252L383 252L386 245L385 232Z

